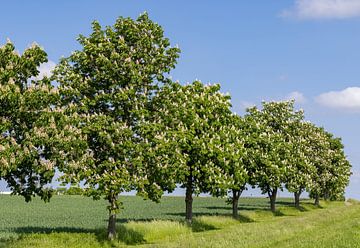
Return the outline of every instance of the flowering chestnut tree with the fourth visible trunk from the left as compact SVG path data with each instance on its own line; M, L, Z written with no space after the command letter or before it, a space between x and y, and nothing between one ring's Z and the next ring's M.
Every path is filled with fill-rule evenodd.
M263 102L262 109L247 110L246 122L252 128L254 177L252 180L267 193L270 208L275 211L276 196L286 181L291 154L292 124L303 118L302 111L294 111L294 102Z

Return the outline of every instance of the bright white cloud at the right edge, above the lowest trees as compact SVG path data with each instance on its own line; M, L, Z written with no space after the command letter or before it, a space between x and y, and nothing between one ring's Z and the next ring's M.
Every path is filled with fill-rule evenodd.
M342 91L330 91L315 98L321 105L351 111L360 111L360 87L349 87Z

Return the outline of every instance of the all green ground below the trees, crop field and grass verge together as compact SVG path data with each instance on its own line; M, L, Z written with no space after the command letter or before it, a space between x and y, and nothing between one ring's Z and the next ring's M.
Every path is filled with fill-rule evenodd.
M240 219L230 217L224 199L195 198L195 220L183 222L184 198L160 204L122 197L119 238L106 241L105 201L55 196L50 203L0 196L0 247L360 247L360 204L279 199L274 215L264 198L241 198Z

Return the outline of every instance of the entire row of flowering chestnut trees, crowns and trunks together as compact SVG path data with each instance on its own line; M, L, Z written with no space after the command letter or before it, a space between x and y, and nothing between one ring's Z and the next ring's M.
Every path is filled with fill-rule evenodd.
M32 45L22 55L0 48L0 176L14 194L49 200L47 185L85 185L109 202L108 235L116 235L119 195L136 190L160 201L186 189L229 196L233 216L246 186L276 195L343 197L351 165L339 138L304 120L293 101L264 102L241 117L219 85L182 85L169 79L180 50L147 14L93 22L78 38L81 50L60 60L51 77L37 79L47 55Z

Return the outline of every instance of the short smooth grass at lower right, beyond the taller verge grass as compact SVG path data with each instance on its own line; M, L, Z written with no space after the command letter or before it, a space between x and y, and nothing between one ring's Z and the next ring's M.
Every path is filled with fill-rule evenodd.
M360 205L283 212L277 217L260 213L256 218L262 221L182 236L154 247L360 247Z

